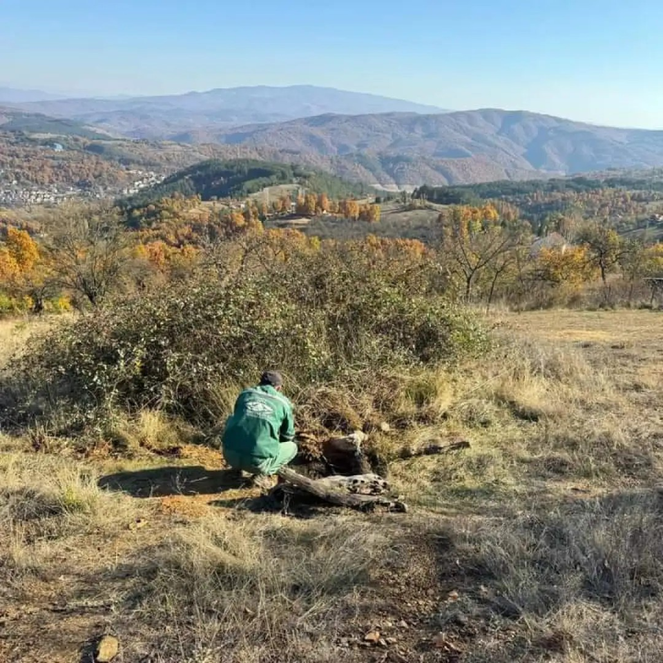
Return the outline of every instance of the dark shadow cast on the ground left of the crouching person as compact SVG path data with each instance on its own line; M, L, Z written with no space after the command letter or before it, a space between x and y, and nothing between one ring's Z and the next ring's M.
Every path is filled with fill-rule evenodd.
M211 495L244 486L246 483L232 470L207 470L202 466L118 472L99 479L99 488L126 492L133 497Z

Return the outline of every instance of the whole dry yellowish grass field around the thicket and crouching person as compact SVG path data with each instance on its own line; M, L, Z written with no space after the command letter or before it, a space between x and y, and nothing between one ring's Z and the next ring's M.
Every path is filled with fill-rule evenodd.
M442 428L375 439L472 443L392 463L404 515L263 508L158 414L117 456L0 434L0 661L663 660L661 314L492 323L412 385ZM1 323L0 365L38 326Z

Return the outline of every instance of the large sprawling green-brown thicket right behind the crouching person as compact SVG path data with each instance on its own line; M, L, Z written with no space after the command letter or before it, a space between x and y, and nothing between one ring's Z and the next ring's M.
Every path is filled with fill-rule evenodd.
M39 418L50 434L70 435L148 408L212 427L238 388L273 366L285 369L307 424L350 428L389 410L412 373L486 347L425 253L367 242L283 252L282 241L278 251L269 237L229 244L184 282L33 340L6 372L6 419ZM332 407L320 403L325 393ZM332 421L343 394L365 412Z

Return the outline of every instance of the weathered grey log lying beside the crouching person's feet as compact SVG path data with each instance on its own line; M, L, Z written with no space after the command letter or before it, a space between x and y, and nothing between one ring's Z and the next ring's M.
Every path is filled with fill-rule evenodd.
M308 492L318 499L336 504L336 506L345 506L353 509L365 510L374 506L384 506L390 510L405 512L407 505L400 500L392 500L383 497L382 494L360 494L358 492L347 492L349 486L372 485L375 490L387 490L387 482L374 474L367 477L325 477L314 481L308 477L303 477L291 468L281 468L278 470L278 476L292 486ZM345 489L339 490L339 488Z

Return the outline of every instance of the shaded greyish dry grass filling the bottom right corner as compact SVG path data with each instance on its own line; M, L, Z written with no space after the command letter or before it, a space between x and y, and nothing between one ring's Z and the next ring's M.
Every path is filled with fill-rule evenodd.
M660 494L638 491L465 521L460 599L442 606L440 626L477 625L473 637L487 642L468 662L657 660L661 506Z

